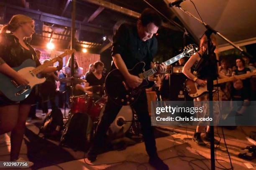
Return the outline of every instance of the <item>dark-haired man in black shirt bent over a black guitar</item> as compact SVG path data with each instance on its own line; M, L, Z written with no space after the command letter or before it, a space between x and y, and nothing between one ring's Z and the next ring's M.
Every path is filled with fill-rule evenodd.
M129 87L138 87L143 79L131 75L128 69L132 69L138 62L145 62L145 70L154 67L153 57L157 51L157 40L153 35L161 26L161 18L153 10L145 9L138 19L137 25L122 24L118 28L113 37L112 70L118 68L125 77ZM159 65L157 73L166 71L164 63ZM115 87L113 87L115 88ZM97 154L100 152L103 137L108 131L110 124L115 120L122 106L116 105L113 101L108 100L105 105L104 115L97 127L95 134L95 142L88 153L88 159L95 161ZM158 157L156 152L156 142L151 127L151 119L148 115L148 104L146 91L142 90L138 100L132 105L138 115L138 120L141 123L143 138L146 146L146 151L149 155L149 163L156 169L167 170L168 166Z

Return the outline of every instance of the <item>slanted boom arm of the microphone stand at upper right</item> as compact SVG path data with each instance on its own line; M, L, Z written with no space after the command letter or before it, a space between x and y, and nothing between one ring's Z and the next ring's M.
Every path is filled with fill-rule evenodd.
M191 13L187 12L187 10L182 9L181 6L177 6L180 10L182 10L184 13L186 13L187 15L191 16L192 18L195 18L198 22L200 22L202 25L204 25L207 29L212 30L212 32L216 35L218 35L220 38L222 38L223 40L225 40L226 42L228 42L230 45L232 45L233 47L235 47L236 49L238 49L239 51L242 52L243 55L247 55L250 58L253 58L252 55L250 55L248 52L246 52L245 50L243 50L241 47L238 47L236 44L234 44L233 42L231 42L230 40L228 40L228 38L226 38L225 36L223 36L222 34L220 34L220 32L213 30L210 25L206 24L205 22L202 22L200 19L196 18L194 15L192 15Z

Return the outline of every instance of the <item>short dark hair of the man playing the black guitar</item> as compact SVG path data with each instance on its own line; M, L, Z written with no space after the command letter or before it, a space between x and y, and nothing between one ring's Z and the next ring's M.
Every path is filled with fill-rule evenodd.
M142 11L139 20L141 20L141 23L144 27L149 23L154 23L157 27L162 25L161 17L158 15L158 13L156 13L156 11L150 8L146 8Z

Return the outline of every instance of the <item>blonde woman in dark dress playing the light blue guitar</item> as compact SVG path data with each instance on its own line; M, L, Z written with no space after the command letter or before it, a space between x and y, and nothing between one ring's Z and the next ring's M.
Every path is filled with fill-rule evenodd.
M0 72L12 77L20 85L28 85L27 77L11 67L20 66L26 59L32 59L36 66L41 65L35 50L26 42L25 37L31 37L35 32L35 22L26 15L13 15L9 23L0 31ZM7 33L9 31L10 33ZM62 68L62 59L57 67L46 67L42 73L54 72ZM26 127L31 104L35 101L35 89L20 102L13 102L0 95L0 135L11 132L10 161L24 162L19 158L20 147ZM33 165L28 162L29 167Z

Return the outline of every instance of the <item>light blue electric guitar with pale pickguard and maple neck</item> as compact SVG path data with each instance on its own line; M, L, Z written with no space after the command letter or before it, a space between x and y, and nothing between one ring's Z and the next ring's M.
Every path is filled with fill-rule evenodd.
M66 55L72 54L74 51L65 50L61 55L38 67L36 67L36 63L31 59L25 60L19 67L13 67L13 70L19 72L28 80L29 83L26 86L19 85L13 78L0 73L0 91L8 99L15 102L26 99L35 85L43 83L46 80L45 78L38 78L36 75L46 67L51 66L54 62L57 62L57 58L63 58Z

